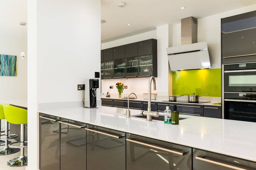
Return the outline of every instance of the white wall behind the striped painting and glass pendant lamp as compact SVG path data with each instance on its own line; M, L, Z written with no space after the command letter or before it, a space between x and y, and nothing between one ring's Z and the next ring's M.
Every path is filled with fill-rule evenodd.
M22 10L20 10L22 9ZM20 57L23 49L27 55L27 1L1 1L0 5L0 54L17 56L17 76L0 76L0 101L5 99L27 99L27 56Z

